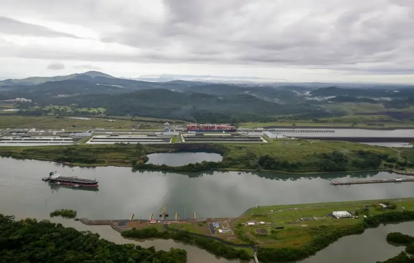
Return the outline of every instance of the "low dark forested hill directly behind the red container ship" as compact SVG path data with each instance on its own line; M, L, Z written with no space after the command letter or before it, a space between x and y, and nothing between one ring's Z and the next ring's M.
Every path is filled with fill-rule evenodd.
M211 95L178 93L169 90L143 90L128 94L94 94L38 99L41 106L69 105L103 107L109 115L138 115L180 118L198 122L239 122L269 120L278 114L317 113L308 104L282 105L249 94ZM321 113L323 114L323 112Z

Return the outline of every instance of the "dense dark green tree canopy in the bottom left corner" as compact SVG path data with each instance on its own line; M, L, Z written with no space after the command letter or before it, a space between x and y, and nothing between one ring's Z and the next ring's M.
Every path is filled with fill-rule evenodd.
M0 214L0 262L185 263L187 252L114 244L89 231Z

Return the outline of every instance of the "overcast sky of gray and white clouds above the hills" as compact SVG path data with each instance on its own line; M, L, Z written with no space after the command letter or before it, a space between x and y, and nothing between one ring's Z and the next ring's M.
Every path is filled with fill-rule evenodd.
M414 0L0 0L0 79L414 83Z

